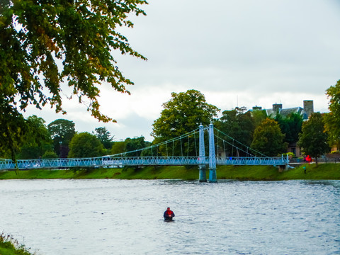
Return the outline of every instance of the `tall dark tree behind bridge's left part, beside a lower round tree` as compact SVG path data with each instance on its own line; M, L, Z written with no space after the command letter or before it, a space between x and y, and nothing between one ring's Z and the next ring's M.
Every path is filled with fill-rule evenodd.
M50 131L55 153L65 158L69 153L69 142L76 133L74 123L71 120L58 119L47 125Z

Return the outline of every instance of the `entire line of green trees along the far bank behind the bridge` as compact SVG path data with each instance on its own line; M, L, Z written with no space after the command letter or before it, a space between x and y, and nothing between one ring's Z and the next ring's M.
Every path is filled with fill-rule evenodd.
M174 139L198 128L200 124L215 127L242 145L259 154L277 156L287 152L288 145L297 144L304 154L319 157L329 152L330 147L340 145L340 81L327 90L330 98L329 113L312 113L308 120L302 115L267 115L264 110L247 111L245 107L222 111L205 101L205 96L196 90L179 94L172 93L171 99L163 104L159 118L154 120L152 142L145 137L128 137L125 141L113 142L113 135L106 128L96 128L92 133L77 132L71 120L58 119L45 125L45 120L33 115L21 121L30 126L27 137L16 151L17 159L55 157L99 157L136 151L132 156L157 153L166 156L168 147L159 147L157 152L140 152L149 145ZM181 141L182 143L182 141ZM183 141L188 155L196 155L193 143ZM179 154L179 146L171 148ZM239 156L232 149L232 142L224 148L229 156ZM238 152L239 153L239 152ZM176 153L175 153L176 154ZM242 153L241 153L242 155ZM11 151L1 147L1 158L11 157Z

